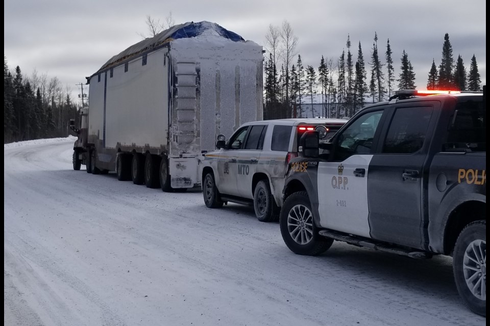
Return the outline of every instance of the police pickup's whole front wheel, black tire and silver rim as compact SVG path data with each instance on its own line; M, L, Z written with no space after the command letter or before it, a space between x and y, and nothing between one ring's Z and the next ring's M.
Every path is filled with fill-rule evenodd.
M332 246L333 239L321 236L316 230L306 192L287 197L281 208L279 226L286 246L295 254L316 256Z

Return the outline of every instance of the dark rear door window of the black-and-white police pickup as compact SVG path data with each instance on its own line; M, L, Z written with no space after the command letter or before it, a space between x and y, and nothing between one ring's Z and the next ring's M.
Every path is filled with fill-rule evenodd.
M397 108L382 152L411 154L421 149L431 116L431 106Z

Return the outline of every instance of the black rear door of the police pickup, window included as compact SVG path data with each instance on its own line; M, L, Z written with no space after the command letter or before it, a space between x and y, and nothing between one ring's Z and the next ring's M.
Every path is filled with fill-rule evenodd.
M395 107L384 141L371 160L367 195L371 237L422 248L426 160L436 114L433 106ZM429 165L430 162L427 162ZM425 182L427 179L425 179Z

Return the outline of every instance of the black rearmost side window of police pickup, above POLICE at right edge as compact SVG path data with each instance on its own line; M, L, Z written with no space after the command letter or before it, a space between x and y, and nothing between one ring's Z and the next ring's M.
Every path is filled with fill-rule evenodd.
M483 102L456 104L443 151L486 151L486 111Z

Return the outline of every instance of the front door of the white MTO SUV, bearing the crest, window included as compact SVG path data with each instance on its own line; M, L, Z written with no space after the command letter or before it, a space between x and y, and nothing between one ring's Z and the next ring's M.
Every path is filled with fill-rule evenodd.
M249 126L244 126L236 130L228 140L225 149L220 152L217 164L219 180L216 187L222 194L238 196L236 186L236 176L238 172L237 156L243 147Z

